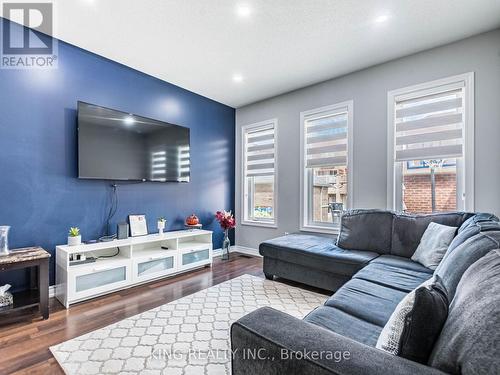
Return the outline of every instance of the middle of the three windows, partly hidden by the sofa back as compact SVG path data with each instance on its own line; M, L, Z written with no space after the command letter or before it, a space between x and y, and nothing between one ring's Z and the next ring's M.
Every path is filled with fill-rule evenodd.
M301 113L301 230L334 232L351 205L352 107Z

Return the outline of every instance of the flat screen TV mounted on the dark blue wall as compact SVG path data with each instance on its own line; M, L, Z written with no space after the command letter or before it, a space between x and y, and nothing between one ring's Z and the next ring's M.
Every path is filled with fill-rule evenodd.
M189 129L78 102L78 177L189 182Z

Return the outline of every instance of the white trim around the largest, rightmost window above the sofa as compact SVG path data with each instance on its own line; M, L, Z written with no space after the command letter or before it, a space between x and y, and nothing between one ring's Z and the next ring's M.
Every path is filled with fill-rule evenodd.
M395 111L394 103L397 97L404 96L410 99L421 95L423 90L428 94L437 93L442 86L463 83L464 89L464 163L461 184L463 186L463 209L464 211L474 211L474 72L468 72L451 76L443 79L437 79L418 85L408 86L387 93L387 208L394 210L398 207L396 203L396 168L395 168ZM427 94L427 92L426 92ZM420 96L418 95L418 96Z

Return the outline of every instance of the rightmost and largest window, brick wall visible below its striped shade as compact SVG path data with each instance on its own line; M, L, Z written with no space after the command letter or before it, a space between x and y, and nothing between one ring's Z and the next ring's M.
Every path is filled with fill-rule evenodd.
M474 209L473 84L468 73L389 92L389 208Z

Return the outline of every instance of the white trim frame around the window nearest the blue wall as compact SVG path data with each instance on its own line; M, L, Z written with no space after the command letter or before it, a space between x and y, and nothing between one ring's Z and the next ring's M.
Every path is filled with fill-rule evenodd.
M272 221L258 221L245 219L245 170L246 170L246 157L245 157L245 134L249 130L257 129L269 125L274 126L274 219ZM278 119L270 119L259 121L253 124L244 125L241 127L241 225L249 225L254 227L265 228L278 228Z

